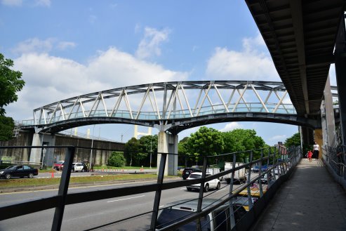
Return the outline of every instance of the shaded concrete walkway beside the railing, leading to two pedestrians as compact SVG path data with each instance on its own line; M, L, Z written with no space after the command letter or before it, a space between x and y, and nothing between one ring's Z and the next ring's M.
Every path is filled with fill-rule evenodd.
M251 230L345 231L346 192L321 160L301 159Z

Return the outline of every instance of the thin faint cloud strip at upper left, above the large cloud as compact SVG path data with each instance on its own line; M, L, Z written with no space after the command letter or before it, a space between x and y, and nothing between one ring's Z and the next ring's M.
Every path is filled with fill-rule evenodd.
M41 40L37 38L27 39L20 42L15 48L12 49L13 53L48 53L54 48L65 50L76 46L72 41L58 41L55 38L48 38Z

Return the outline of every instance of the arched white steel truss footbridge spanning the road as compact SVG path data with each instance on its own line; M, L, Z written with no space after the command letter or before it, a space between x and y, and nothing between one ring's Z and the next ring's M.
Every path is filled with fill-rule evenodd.
M22 128L56 133L88 124L138 124L173 135L227 121L270 121L319 127L298 117L277 81L174 81L88 93L34 110Z

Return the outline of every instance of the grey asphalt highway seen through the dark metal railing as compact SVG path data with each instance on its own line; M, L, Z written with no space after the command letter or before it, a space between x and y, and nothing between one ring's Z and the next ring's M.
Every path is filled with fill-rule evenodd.
M136 185L135 183L133 185ZM142 185L143 183L139 183ZM100 188L122 187L124 185L99 186ZM229 187L222 183L219 191L211 191L212 197L221 197L229 191ZM83 192L91 190L90 187L71 188L69 192ZM0 204L12 204L20 202L22 199L35 199L56 194L56 190L46 190L39 192L26 192L15 194L0 194ZM180 199L192 199L198 197L198 192L187 192L186 187L165 190L162 192L160 206ZM154 203L154 192L145 194L133 194L128 197L114 197L95 202L73 204L65 207L64 219L61 230L86 230L98 225L112 223L120 220L145 213L152 210ZM53 221L54 209L32 213L18 218L3 220L0 222L0 230L50 230ZM147 230L149 229L151 213L140 218L133 218L126 222L102 227L98 230Z

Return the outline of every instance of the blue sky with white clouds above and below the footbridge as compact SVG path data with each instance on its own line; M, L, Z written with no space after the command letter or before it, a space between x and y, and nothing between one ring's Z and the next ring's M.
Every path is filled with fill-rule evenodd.
M17 121L32 119L42 105L121 86L281 81L244 1L1 0L0 31L0 53L14 60L26 81L18 102L6 107ZM260 122L211 127L255 129L269 145L298 131ZM133 136L133 126L119 124L78 132L88 128L112 140Z

